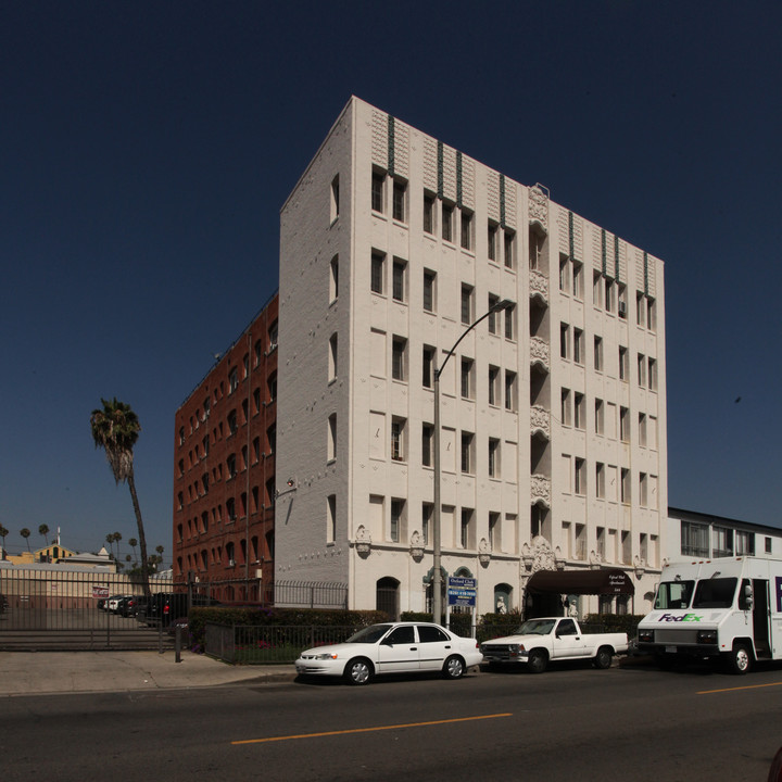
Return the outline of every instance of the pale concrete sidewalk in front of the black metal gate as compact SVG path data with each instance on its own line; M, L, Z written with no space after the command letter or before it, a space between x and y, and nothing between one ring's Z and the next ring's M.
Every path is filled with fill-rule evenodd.
M293 681L292 665L229 666L182 652L0 652L0 696Z

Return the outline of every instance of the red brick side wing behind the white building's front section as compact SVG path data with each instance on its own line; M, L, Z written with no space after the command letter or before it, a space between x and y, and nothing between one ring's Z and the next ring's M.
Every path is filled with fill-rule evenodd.
M218 600L274 582L277 313L275 295L176 413L174 578L244 580Z

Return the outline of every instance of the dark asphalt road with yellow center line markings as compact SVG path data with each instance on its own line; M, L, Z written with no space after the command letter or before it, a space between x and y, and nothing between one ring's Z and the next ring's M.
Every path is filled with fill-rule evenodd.
M15 780L760 780L782 745L782 666L585 667L0 704Z

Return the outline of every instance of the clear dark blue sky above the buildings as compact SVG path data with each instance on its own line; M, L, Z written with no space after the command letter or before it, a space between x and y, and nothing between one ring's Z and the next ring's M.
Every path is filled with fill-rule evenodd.
M671 505L782 526L782 3L0 0L0 524L136 533L351 94L664 258ZM741 396L741 401L735 400Z

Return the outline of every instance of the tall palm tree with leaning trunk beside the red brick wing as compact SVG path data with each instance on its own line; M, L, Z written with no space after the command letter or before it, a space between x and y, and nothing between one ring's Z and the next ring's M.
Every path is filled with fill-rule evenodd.
M149 562L147 557L147 538L144 537L141 508L139 507L138 495L136 494L136 481L134 479L133 457L134 445L138 440L141 426L138 416L130 408L130 405L117 401L116 396L108 402L101 399L102 409L92 411L90 416L90 428L96 447L105 451L109 466L118 484L124 482L130 490L136 524L138 525L139 547L141 550L141 585L144 595L150 597L149 588Z

